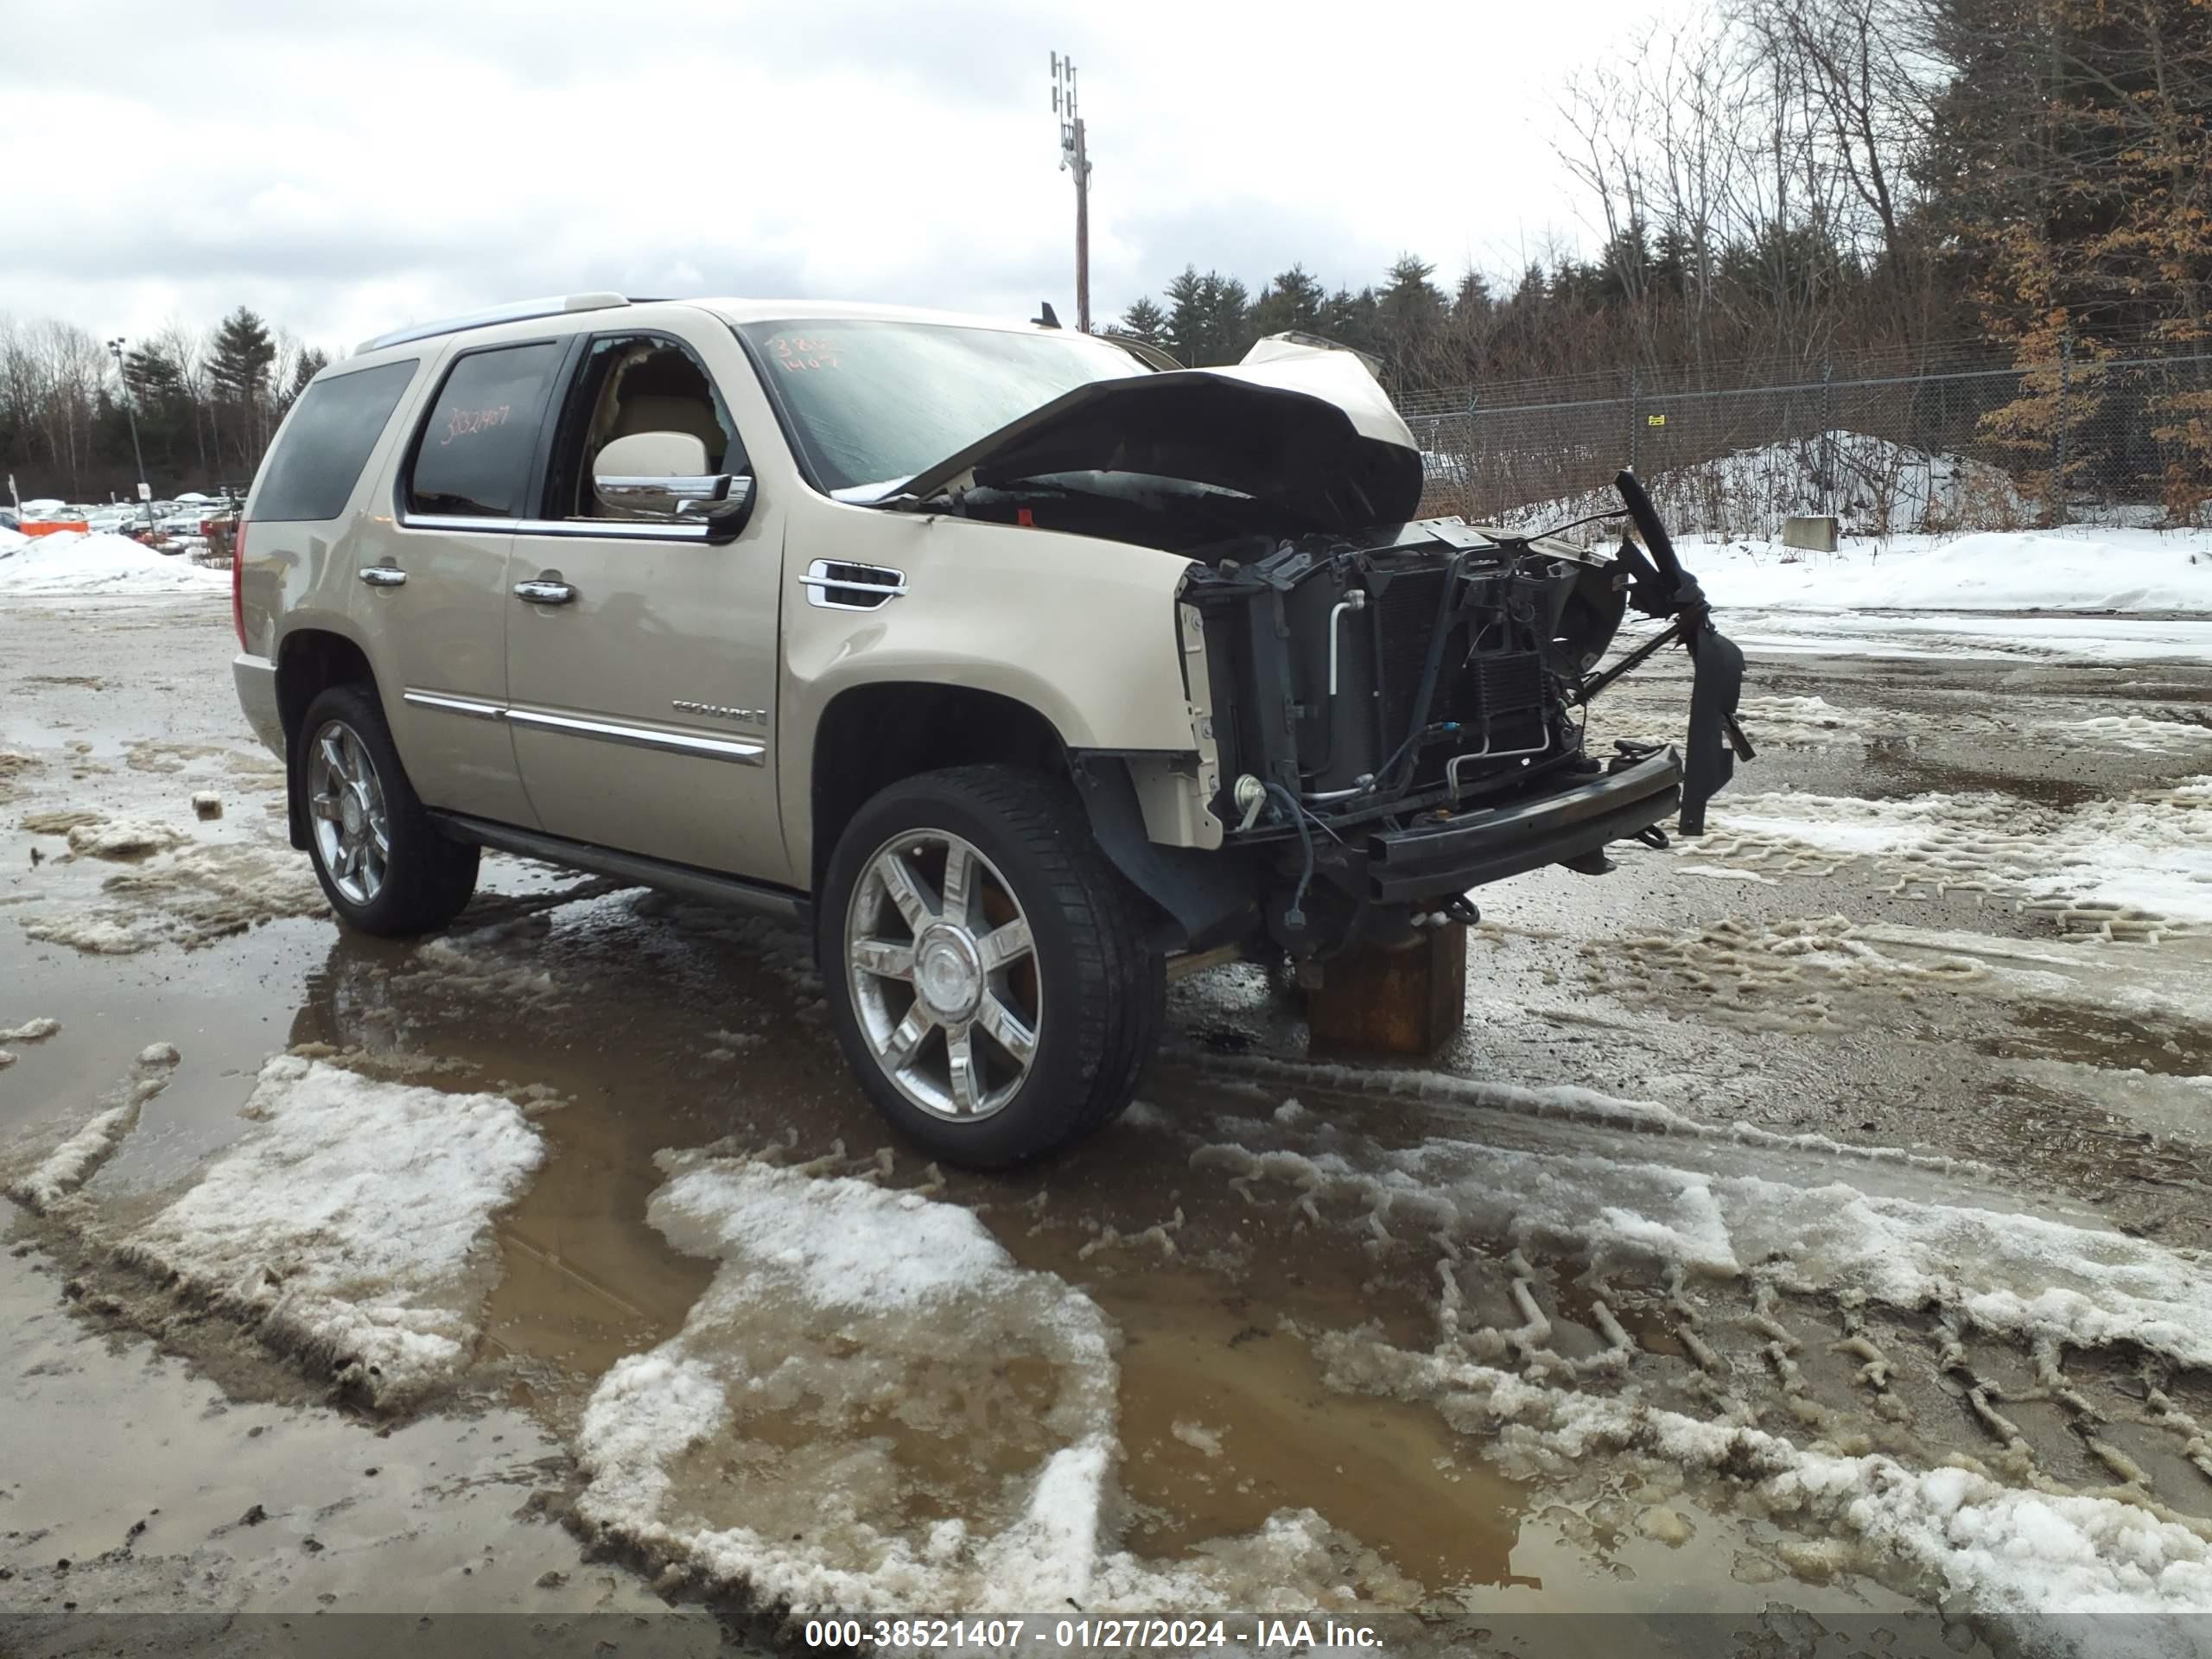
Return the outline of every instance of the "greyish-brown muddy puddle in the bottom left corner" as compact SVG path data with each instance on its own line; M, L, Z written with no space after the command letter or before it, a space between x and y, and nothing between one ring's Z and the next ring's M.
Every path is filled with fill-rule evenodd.
M144 1338L86 1329L44 1267L0 1256L9 1442L42 1449L0 1467L11 1613L175 1613L181 1582L230 1613L664 1613L584 1559L557 1502L531 1515L566 1455L526 1416L378 1431L234 1402Z

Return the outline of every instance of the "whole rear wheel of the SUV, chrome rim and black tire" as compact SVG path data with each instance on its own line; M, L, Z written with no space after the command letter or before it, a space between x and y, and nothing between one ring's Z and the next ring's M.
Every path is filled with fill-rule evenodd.
M476 891L478 849L438 834L367 686L307 706L292 748L307 856L338 918L363 933L427 933Z

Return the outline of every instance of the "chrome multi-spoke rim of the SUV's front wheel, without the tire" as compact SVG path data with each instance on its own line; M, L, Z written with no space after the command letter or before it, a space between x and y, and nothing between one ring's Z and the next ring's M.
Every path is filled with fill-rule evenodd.
M1037 947L971 843L916 830L876 847L845 909L852 1006L883 1075L933 1117L975 1121L1037 1060Z

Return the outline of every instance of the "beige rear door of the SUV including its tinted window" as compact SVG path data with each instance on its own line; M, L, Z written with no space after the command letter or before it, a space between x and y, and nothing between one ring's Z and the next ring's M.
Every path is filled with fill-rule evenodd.
M398 471L385 557L361 582L398 664L385 697L434 807L535 827L507 734L507 557L571 338L467 347L445 367ZM394 708L394 701L398 703Z

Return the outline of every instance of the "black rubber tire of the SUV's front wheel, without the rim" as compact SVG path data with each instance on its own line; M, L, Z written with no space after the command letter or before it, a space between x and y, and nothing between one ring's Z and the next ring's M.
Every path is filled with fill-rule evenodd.
M1029 925L1042 1015L1035 1053L1026 1075L1000 1082L1011 1095L987 1115L953 1117L909 1099L863 1031L856 998L867 993L856 978L867 975L847 960L847 925L869 867L905 836L967 841ZM1166 969L1144 942L1141 900L1099 852L1068 783L1018 765L962 765L894 783L845 825L816 905L814 951L845 1057L863 1093L929 1157L967 1168L1020 1164L1128 1106L1159 1042ZM909 1006L920 1000L909 993ZM933 1040L940 1048L949 1042Z

